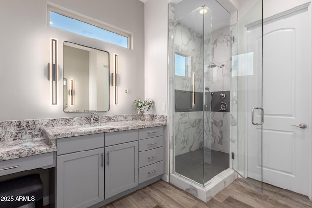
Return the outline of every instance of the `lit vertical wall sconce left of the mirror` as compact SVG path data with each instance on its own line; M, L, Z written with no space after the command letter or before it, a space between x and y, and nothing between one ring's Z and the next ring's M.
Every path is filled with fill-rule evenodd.
M48 80L50 81L50 97L52 105L58 104L59 90L59 58L58 58L58 39L50 38L50 58L48 64Z

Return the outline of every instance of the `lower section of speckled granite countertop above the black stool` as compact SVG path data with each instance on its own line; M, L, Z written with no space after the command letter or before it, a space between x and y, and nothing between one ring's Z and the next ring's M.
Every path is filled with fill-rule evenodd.
M55 142L46 138L0 142L0 161L57 151Z

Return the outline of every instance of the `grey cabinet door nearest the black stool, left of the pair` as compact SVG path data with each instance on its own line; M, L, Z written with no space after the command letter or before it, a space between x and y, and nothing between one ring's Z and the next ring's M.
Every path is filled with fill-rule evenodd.
M104 148L57 157L57 208L86 208L104 200Z

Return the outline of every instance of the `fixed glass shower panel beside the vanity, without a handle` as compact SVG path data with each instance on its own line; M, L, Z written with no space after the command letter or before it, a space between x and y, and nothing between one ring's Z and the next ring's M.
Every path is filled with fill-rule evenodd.
M173 22L174 171L200 185L211 179L211 15L199 7Z

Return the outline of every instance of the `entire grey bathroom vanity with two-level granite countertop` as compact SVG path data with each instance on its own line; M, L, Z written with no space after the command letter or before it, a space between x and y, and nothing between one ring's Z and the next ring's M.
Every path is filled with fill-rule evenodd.
M164 173L165 121L47 127L1 142L0 176L50 168L50 207L98 208Z

